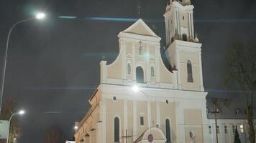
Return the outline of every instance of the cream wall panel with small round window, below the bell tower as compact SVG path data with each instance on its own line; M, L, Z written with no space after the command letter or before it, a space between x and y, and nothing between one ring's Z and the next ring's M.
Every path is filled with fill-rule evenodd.
M204 142L203 139L203 122L201 109L184 109L184 124L186 125L185 134L186 142ZM193 132L194 139L189 137L189 132Z

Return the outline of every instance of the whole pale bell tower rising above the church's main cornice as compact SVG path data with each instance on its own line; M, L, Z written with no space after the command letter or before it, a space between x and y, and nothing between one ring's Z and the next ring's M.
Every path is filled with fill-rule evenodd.
M201 44L194 34L193 8L190 0L170 0L166 6L165 54L178 70L178 89L204 92Z

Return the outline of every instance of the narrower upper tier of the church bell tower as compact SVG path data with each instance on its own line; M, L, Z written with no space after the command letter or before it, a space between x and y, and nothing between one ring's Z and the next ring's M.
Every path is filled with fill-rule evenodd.
M170 0L164 14L166 45L172 44L175 39L198 41L194 36L193 8L190 0Z

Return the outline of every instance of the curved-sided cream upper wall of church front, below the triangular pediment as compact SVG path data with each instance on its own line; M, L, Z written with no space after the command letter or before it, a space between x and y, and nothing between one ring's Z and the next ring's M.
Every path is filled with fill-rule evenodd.
M134 71L136 71L137 66L142 66L145 83L150 82L150 84L157 84L157 82L160 82L163 84L173 84L173 73L168 71L163 64L159 45L152 43L151 41L143 40L140 44L140 41L137 41L137 39L122 39L119 42L121 42L119 56L117 56L116 60L112 64L106 66L106 78L118 79L118 82L116 80L109 80L113 82L112 84L122 84L122 80L125 82L136 82L134 81L134 77L136 77L136 73ZM139 54L140 46L142 46L142 55ZM132 74L127 74L128 61L131 62ZM151 77L151 65L154 65L155 68L154 77ZM126 75L123 75L123 71ZM170 88L173 87L170 86Z

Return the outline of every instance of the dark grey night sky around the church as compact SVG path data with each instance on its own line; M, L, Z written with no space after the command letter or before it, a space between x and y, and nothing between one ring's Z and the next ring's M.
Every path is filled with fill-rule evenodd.
M224 54L233 41L256 40L256 2L194 0L195 31L202 46L204 86L210 94L223 90ZM43 142L45 130L59 125L69 137L73 124L88 109L99 84L102 55L113 61L119 51L117 34L129 21L92 21L86 17L138 18L161 36L167 0L1 0L1 66L9 28L35 11L47 11L45 21L19 24L11 35L4 99L13 98L27 114L19 117L21 143ZM78 16L78 19L58 19ZM215 92L214 92L215 91Z

